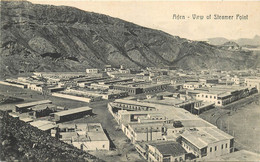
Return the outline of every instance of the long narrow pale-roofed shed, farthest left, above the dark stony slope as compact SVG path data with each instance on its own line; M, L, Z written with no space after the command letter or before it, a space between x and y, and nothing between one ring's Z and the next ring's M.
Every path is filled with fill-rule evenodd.
M52 103L52 101L50 101L50 100L41 100L41 101L34 101L34 102L18 104L18 105L15 105L15 111L23 113L23 112L29 111L28 108L30 108L30 107L33 107L36 105L51 104L51 103Z

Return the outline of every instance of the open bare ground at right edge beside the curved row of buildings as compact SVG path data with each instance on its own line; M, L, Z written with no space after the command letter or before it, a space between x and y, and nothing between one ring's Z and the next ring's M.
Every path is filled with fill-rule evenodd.
M215 108L200 115L235 137L235 147L260 153L260 94L239 100L226 108Z

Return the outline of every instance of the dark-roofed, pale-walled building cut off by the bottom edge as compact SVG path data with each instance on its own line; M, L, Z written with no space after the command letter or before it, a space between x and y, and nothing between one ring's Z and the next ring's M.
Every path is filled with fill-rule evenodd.
M187 151L175 141L156 141L147 143L148 162L185 161Z

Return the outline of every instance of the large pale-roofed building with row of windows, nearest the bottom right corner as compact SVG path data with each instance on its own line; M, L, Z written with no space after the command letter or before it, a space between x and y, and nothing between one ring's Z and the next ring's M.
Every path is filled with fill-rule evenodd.
M234 151L234 137L216 127L190 128L180 136L182 147L197 158L215 158Z

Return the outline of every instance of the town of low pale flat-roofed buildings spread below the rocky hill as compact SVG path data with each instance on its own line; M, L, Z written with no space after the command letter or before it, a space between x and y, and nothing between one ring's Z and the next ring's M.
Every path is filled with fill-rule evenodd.
M106 65L33 72L2 80L0 88L9 116L103 160L260 159L231 121L249 104L259 109L260 69Z

